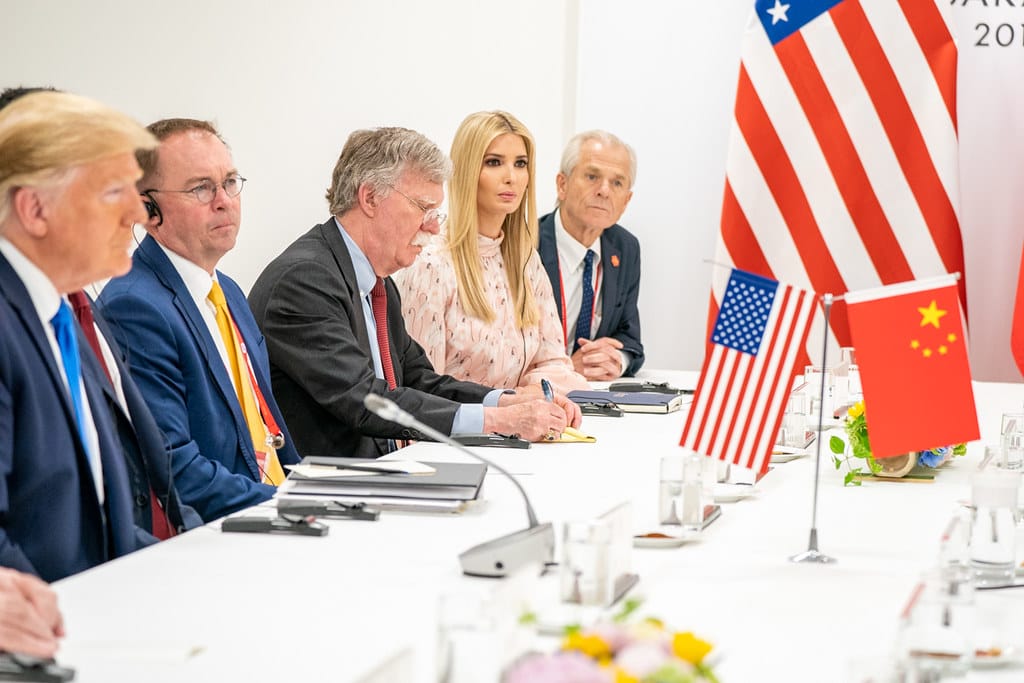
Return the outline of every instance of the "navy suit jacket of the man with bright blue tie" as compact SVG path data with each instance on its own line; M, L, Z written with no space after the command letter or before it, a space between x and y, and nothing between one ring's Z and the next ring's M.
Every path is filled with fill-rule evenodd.
M88 343L81 329L78 343ZM39 315L0 255L0 564L48 582L155 541L133 523L124 458L103 408L102 370L92 353L80 355L99 437L103 505Z

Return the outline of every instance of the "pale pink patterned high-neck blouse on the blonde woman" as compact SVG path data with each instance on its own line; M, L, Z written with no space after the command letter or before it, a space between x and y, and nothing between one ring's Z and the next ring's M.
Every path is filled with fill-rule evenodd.
M563 393L589 388L565 354L551 283L537 252L526 264L526 275L541 308L541 322L526 330L516 328L515 302L501 252L503 237L477 238L495 322L484 323L463 309L452 258L443 242L435 240L394 279L409 333L437 372L457 379L514 388L544 378Z

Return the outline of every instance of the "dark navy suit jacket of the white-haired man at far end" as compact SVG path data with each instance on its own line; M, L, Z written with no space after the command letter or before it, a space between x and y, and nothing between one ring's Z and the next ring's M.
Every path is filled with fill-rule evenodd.
M541 218L541 240L538 246L544 269L551 280L551 289L558 303L558 315L565 324L562 310L562 286L558 272L558 245L555 241L555 214ZM623 343L623 350L632 356L623 375L636 375L643 366L643 344L640 341L640 242L620 224L601 232L601 325L594 338L611 337Z

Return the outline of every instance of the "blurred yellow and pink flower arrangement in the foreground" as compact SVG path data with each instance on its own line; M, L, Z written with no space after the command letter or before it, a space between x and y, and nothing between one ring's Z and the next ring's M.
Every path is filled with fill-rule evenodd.
M639 604L589 630L569 627L559 651L519 659L504 683L718 683L706 660L712 644L656 618L629 622Z

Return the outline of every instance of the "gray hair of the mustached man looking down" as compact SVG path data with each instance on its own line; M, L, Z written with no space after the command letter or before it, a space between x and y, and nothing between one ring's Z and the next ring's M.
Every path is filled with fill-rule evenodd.
M420 173L430 182L444 183L452 175L452 162L436 144L415 130L355 131L348 136L338 157L327 190L331 214L340 216L355 206L362 183L387 197L406 171Z

